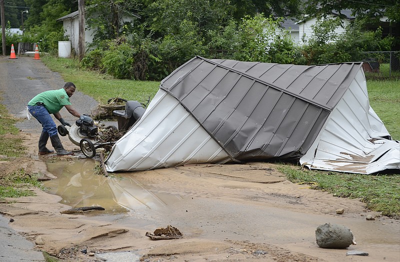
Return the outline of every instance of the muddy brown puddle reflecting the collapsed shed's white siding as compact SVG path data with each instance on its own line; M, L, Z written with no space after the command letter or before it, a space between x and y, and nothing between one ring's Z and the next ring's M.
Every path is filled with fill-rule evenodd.
M72 208L100 206L102 214L155 210L176 203L181 196L159 193L143 185L132 173L105 177L96 174L92 159L48 162L47 170L56 176L43 183L46 192L62 198Z

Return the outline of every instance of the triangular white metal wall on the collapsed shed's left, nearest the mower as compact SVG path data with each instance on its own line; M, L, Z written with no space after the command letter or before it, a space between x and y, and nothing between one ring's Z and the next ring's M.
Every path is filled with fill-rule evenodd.
M229 160L171 95L159 90L143 116L112 148L107 171L140 171Z

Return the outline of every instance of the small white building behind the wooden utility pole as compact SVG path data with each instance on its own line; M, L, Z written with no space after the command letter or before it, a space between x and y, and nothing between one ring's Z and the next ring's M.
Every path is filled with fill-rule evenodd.
M139 15L135 13L130 13L122 18L122 22L132 21L132 17L140 18ZM79 18L78 18L78 11L74 11L70 14L62 16L58 18L56 21L62 21L62 25L64 28L64 36L68 37L69 41L71 41L71 49L72 52L77 53L78 50L78 39L79 39ZM88 28L85 26L85 46L93 42L95 30L92 28Z

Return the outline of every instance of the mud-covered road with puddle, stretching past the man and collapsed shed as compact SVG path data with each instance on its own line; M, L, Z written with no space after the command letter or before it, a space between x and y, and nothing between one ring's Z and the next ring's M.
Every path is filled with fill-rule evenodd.
M16 118L24 117L25 104L36 93L64 84L57 73L29 57L0 58L0 79L1 103ZM78 91L79 86L71 102L89 113L96 102ZM75 121L66 111L61 114ZM94 160L39 158L39 124L31 119L17 126L27 156L1 162L0 173L24 167L52 179L45 182L46 192L35 190L36 197L1 203L1 213L14 220L9 225L35 243L35 249L65 261L400 261L397 220L365 210L358 200L292 184L274 164L189 165L105 178L94 174ZM63 141L77 149L67 138ZM82 205L110 208L60 214ZM335 212L339 208L344 209L341 215ZM376 220L367 221L366 215ZM325 223L348 227L357 245L319 248L315 229ZM167 225L183 238L152 241L145 236ZM346 256L353 250L369 255Z

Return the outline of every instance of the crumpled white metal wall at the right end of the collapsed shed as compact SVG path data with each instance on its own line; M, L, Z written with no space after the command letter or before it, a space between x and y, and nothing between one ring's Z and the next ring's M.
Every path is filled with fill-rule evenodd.
M364 174L400 168L400 144L380 138L389 134L369 106L362 70L329 117L300 164Z

